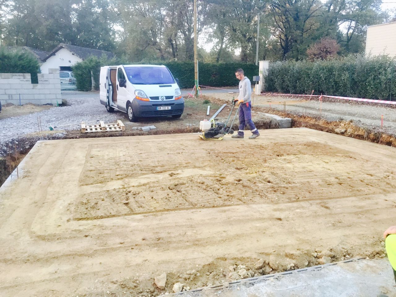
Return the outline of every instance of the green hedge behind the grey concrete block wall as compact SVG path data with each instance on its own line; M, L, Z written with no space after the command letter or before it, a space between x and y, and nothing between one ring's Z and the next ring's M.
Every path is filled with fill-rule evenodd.
M32 84L38 84L40 66L37 59L23 51L8 51L0 47L0 73L30 73Z

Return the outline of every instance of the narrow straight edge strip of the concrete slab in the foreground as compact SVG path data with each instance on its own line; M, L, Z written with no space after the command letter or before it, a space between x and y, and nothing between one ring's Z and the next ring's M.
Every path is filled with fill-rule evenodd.
M352 262L361 261L361 260L364 260L364 259L366 259L366 258L351 258L351 259L348 259L348 260L328 263L328 264L324 264L324 265L318 265L318 266L312 266L312 267L307 267L307 268L300 268L300 269L296 269L296 270L278 272L278 273L274 273L274 274L256 276L256 277L253 277L253 278L245 278L245 279L241 279L241 280L234 280L232 282L224 283L224 284L221 284L221 285L200 287L200 288L197 288L197 289L192 289L192 290L189 290L189 291L183 291L183 292L179 292L179 293L171 293L171 294L167 294L167 295L159 295L158 297L181 296L181 295L184 295L186 293L191 293L191 292L199 292L199 291L203 291L203 290L213 290L213 289L219 289L219 288L222 288L222 287L227 287L228 288L228 287L233 286L233 285L248 284L248 283L251 283L251 282L260 282L260 281L268 280L270 278L276 278L276 277L282 276L282 275L296 274L296 273L305 272L305 271L321 270L321 269L324 269L324 268L329 267L329 266L337 265L339 263L352 263Z

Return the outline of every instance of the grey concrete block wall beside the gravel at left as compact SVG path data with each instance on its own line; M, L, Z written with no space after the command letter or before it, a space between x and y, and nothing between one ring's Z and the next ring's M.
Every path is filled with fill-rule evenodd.
M2 105L26 103L53 105L62 103L59 70L39 73L38 84L32 84L30 73L0 73L0 101Z

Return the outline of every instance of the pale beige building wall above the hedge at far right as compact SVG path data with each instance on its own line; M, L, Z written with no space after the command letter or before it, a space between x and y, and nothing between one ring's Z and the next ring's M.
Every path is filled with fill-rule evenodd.
M396 57L396 22L367 27L366 54Z

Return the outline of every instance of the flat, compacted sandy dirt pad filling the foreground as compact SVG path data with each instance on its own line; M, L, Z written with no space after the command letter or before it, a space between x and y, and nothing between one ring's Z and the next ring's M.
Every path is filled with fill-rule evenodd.
M384 257L395 148L260 133L38 142L0 188L0 296L158 296Z

